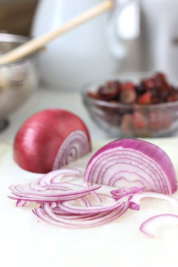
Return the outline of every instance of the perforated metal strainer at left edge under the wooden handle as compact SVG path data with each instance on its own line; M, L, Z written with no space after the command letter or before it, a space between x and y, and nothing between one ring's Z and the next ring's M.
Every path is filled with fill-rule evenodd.
M28 40L28 37L0 33L0 55ZM7 125L7 116L36 88L38 55L39 51L15 63L0 65L0 130Z

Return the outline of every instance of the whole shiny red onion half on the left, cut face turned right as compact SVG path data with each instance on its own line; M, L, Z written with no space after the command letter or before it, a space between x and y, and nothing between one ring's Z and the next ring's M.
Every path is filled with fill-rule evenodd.
M14 159L31 172L47 173L91 151L86 125L73 113L47 109L32 115L14 141Z

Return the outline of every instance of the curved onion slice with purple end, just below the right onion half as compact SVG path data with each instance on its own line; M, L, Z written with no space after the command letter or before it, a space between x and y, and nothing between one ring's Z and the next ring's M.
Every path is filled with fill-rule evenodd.
M130 208L134 209L134 205L136 205L136 207L140 206L139 201L141 198L162 198L162 199L170 201L173 206L178 207L177 198L164 195L161 193L142 191L142 192L137 192L134 195L129 197L128 201L131 201Z

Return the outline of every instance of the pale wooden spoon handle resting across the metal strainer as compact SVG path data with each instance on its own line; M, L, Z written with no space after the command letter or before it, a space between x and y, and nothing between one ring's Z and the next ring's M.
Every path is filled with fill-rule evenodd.
M57 36L60 36L66 33L67 31L70 31L71 29L104 13L109 9L112 9L113 7L114 7L114 2L112 0L106 0L101 4L94 6L93 8L82 13L76 18L69 20L67 23L63 24L60 28L50 31L47 34L39 36L38 38L32 39L26 42L25 44L20 45L19 47L13 49L12 51L2 55L0 57L0 64L11 63L33 53L34 51L40 49L41 47L43 47L44 45L55 39Z

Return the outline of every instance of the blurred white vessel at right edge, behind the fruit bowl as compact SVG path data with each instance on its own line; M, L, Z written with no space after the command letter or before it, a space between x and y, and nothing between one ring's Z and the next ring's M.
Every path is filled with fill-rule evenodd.
M178 76L178 0L142 0L146 69Z

